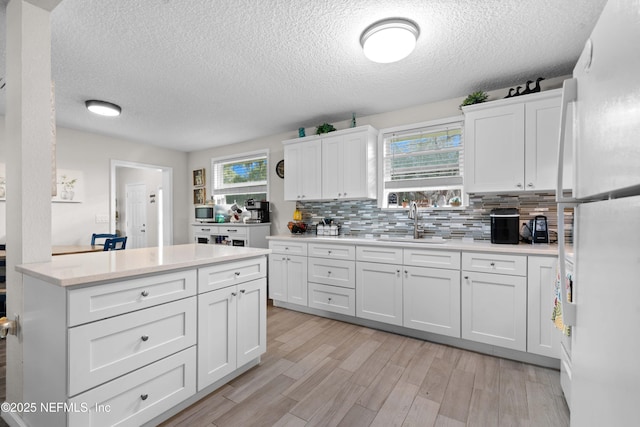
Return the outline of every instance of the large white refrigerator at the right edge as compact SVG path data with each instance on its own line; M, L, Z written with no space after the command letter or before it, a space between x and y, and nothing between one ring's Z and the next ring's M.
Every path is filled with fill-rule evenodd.
M563 195L558 162L556 198L559 238L563 210L574 206L572 303L562 311L572 325L576 427L640 425L639 46L640 2L609 0L564 84L558 157L573 143L575 175ZM573 141L564 141L567 126Z

